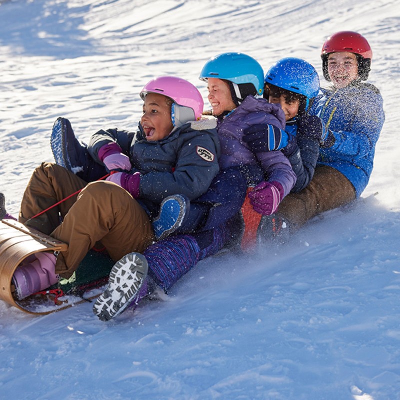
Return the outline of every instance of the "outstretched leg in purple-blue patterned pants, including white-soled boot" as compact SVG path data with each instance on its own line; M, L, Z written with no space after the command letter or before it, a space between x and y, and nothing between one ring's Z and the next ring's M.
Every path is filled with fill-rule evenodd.
M228 239L230 230L218 227L193 236L168 237L143 254L125 255L113 266L108 287L94 304L94 314L109 320L129 305L136 305L157 286L170 288L199 260L218 252Z

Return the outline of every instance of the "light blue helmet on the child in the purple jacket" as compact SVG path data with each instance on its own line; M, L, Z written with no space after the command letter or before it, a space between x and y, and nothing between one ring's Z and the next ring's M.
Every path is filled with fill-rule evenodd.
M217 78L231 83L233 101L241 103L248 95L264 92L264 71L254 58L243 53L222 53L204 65L201 80Z

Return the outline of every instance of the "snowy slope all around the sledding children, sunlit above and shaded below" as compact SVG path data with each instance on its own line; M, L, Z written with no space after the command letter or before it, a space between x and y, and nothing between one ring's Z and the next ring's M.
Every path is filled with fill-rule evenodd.
M164 301L104 323L85 303L34 317L0 301L0 399L400 399L400 3L396 0L11 0L0 5L0 191L17 214L50 132L135 129L139 91L193 82L225 51L321 76L330 34L356 30L386 122L356 204L279 251L202 261ZM377 194L376 194L377 193Z

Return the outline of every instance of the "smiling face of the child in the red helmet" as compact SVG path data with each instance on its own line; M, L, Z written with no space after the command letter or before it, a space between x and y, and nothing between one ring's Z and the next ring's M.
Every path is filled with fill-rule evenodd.
M348 86L358 77L357 56L346 51L329 54L328 73L336 88Z

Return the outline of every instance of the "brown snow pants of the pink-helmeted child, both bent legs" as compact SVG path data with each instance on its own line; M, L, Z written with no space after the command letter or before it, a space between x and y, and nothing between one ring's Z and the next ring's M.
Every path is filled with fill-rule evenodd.
M79 195L28 220L80 189ZM126 190L106 181L87 184L52 163L43 163L33 172L22 198L19 221L68 244L55 265L55 272L65 278L97 241L115 261L127 253L144 251L153 241L146 212Z

